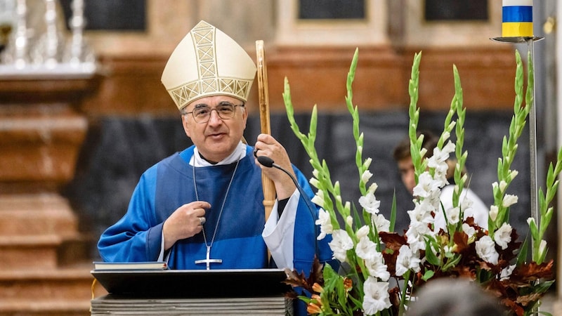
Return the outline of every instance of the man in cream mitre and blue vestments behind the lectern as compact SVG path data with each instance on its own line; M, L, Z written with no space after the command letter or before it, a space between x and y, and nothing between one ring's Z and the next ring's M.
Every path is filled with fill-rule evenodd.
M266 134L254 147L243 142L255 74L246 51L207 22L178 44L162 84L194 145L143 173L126 213L99 239L103 261L166 261L181 270L277 267L308 275L315 256L332 260L330 239L315 236L313 190L285 148ZM286 173L261 166L259 156L292 173L306 196ZM262 171L277 194L268 219Z

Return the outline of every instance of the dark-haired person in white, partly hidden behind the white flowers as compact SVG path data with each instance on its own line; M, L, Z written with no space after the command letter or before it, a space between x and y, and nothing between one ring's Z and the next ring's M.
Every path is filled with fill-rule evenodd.
M419 131L417 135L420 134L424 135L424 140L421 143L421 147L427 150L426 157L431 157L433 154L433 149L437 146L437 142L439 138L435 136L430 131ZM400 178L402 179L402 183L410 192L410 194L414 195L414 187L416 186L415 180L415 170L414 164L412 162L412 154L410 153L410 138L407 137L400 141L398 145L393 150L393 158L398 165L398 171L400 172ZM453 178L455 172L455 159L447 159L447 164L449 169L447 170L447 181L449 182L448 185L445 185L441 189L440 194L440 201L443 203L443 207L445 210L452 209L452 195L455 191L455 179ZM463 171L466 173L466 169ZM468 182L467 182L468 183ZM469 187L464 187L462 190L462 199L469 199L472 204L471 207L464 209L464 218L473 217L474 222L488 230L488 207L484 204L484 202L473 192ZM443 216L443 212L436 212L435 215L435 227L438 228L445 228L445 218Z

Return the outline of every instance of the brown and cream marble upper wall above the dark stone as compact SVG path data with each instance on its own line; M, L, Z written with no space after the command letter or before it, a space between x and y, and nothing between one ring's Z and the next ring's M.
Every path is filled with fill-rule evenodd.
M285 77L294 91L297 112L308 112L315 103L320 110L345 111L341 107L344 82L355 48L359 48L360 57L354 96L366 111L405 109L407 79L413 55L419 51L424 56L421 109L449 107L453 64L462 76L469 109L511 108L511 93L495 93L511 87L512 82L504 78L514 74L513 48L488 38L501 29L497 9L488 23L430 25L419 22L423 15L420 1L403 1L404 6L396 8L388 4L395 1L373 0L366 1L367 22L299 22L294 13L296 0L166 1L147 1L148 26L141 34L86 32L107 71L98 95L84 105L87 113L172 114L174 107L159 76L174 46L200 19L228 32L250 55L255 56L254 41L264 40L272 111L284 110L281 93ZM397 10L403 12L398 14ZM405 19L397 25L396 16L400 15ZM389 25L403 31L389 34ZM458 29L459 37L449 43L446 29ZM466 31L471 29L478 32ZM255 88L252 100L257 100Z

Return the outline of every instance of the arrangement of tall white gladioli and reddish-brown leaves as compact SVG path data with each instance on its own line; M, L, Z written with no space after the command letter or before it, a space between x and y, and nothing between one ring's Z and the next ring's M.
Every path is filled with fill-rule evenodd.
M321 206L317 225L318 239L332 235L329 243L334 258L341 267L315 263L311 274L287 270L287 283L301 287L310 296L299 296L308 304L311 315L404 315L416 289L440 277L467 278L494 294L514 315L530 315L540 305L540 298L554 282L553 261L545 262L547 243L544 233L554 209L549 206L558 187L562 170L562 150L556 166L549 166L546 193L539 192L539 218L529 218L530 239L518 240L518 234L509 224L510 206L518 197L507 190L518 172L511 170L517 151L517 141L523 131L532 106L534 78L532 59L528 59L528 81L523 105L523 63L516 51L516 98L509 136L504 136L502 157L497 164L497 182L492 184L494 204L490 206L488 230L478 226L473 218L464 219L464 210L471 202L464 199L462 190L467 176L462 174L468 152L463 152L464 117L462 86L457 68L453 65L455 96L445 118L443 133L433 152L421 148L423 135L417 136L419 108L419 62L421 53L414 56L409 84L410 93L410 150L416 173L414 208L408 211L410 225L405 234L393 232L396 218L396 200L390 219L380 212L380 201L375 195L377 184L369 171L371 158L362 158L363 135L359 129L358 107L353 106L352 83L357 66L355 51L347 79L346 104L353 117L353 136L356 143L355 164L358 168L360 209L354 203L341 199L339 182L332 182L329 168L320 160L314 143L317 110L313 107L308 134L301 133L294 119L288 80L283 94L287 117L295 135L301 140L311 165L310 183L317 190L313 202ZM456 140L451 140L455 133ZM444 209L440 188L447 184L445 162L451 154L456 157L455 193L452 209ZM443 212L445 228L436 228L434 216ZM344 225L340 226L340 221ZM537 223L538 222L538 223ZM528 249L532 250L528 262ZM389 289L389 279L396 279L396 287ZM548 314L542 312L543 314Z

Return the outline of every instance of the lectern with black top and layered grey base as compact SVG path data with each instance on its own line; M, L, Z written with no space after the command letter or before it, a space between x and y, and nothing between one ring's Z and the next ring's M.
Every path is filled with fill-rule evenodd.
M279 269L92 270L91 315L293 315Z

